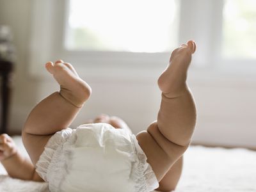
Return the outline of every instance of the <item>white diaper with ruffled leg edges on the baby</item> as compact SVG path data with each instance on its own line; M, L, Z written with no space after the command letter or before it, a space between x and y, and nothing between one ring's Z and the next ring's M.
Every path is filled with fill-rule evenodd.
M148 192L159 186L136 136L109 124L56 132L36 172L51 191Z

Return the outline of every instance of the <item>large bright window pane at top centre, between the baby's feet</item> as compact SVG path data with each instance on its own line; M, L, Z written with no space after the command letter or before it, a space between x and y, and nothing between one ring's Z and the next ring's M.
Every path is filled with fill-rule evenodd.
M65 47L165 52L177 45L175 0L70 0Z

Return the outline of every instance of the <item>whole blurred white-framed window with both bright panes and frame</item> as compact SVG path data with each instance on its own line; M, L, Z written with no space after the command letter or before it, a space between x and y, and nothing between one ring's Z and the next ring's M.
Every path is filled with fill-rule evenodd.
M255 73L255 7L254 0L34 0L30 69L38 75L39 65L63 58L86 76L158 75L173 47L193 39L191 70Z

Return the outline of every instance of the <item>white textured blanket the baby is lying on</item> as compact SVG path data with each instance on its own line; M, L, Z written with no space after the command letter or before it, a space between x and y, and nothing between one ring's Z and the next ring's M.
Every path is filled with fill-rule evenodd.
M27 156L20 137L17 146ZM0 191L49 191L47 183L12 179L0 164ZM256 191L256 152L236 148L190 147L175 192Z

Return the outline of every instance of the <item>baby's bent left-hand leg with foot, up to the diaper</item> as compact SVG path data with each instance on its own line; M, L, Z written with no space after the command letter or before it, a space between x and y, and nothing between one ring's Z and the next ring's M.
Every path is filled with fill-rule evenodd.
M22 130L22 140L35 164L52 134L71 124L83 103L90 97L91 88L76 73L72 65L59 60L45 67L60 84L55 92L31 111Z

